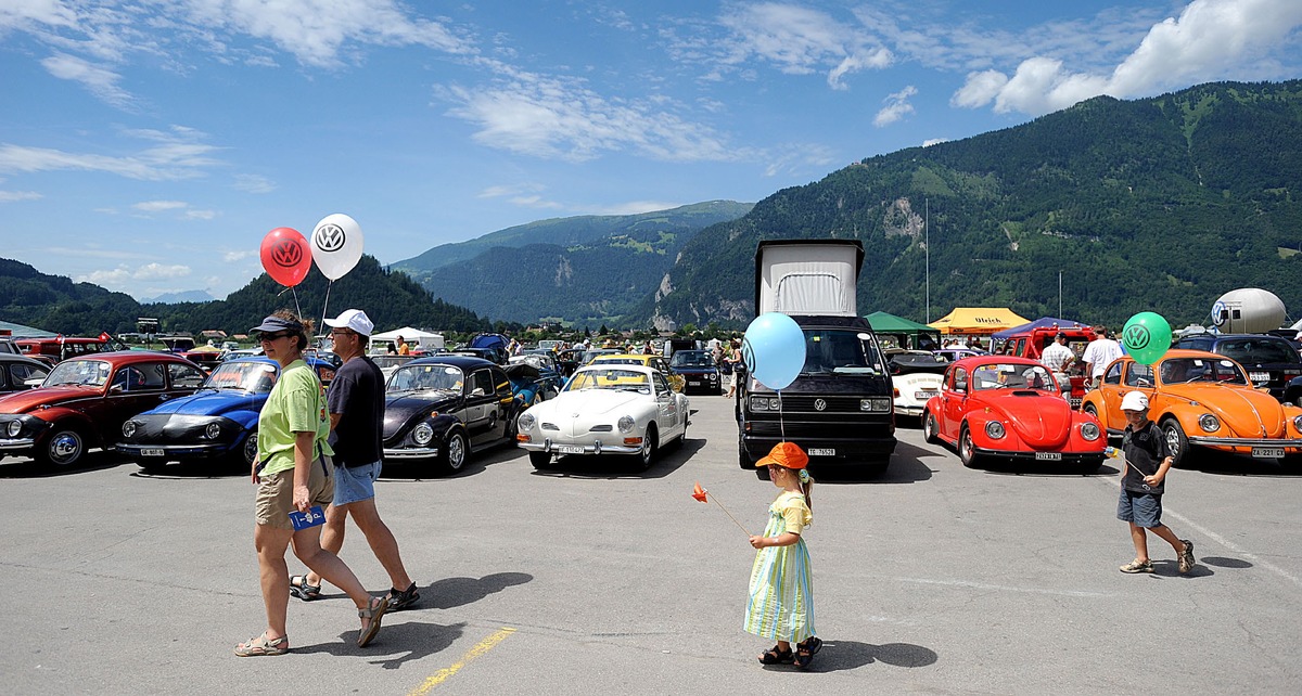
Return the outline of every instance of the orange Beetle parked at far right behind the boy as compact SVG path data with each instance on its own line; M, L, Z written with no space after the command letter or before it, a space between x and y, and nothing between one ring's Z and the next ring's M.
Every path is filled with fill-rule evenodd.
M1108 366L1103 385L1085 395L1081 410L1120 436L1128 392L1148 395L1148 419L1161 427L1176 464L1187 461L1191 446L1262 459L1302 453L1302 408L1253 388L1243 367L1224 355L1169 350L1151 366L1126 355Z

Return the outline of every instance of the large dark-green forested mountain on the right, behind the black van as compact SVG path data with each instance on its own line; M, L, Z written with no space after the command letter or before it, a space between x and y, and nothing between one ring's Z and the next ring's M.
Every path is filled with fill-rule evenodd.
M642 325L754 317L760 239L854 238L859 314L956 306L1118 325L1203 321L1236 288L1302 306L1302 81L1100 96L1032 122L870 157L687 242ZM930 209L930 215L927 211ZM930 220L928 220L930 217Z

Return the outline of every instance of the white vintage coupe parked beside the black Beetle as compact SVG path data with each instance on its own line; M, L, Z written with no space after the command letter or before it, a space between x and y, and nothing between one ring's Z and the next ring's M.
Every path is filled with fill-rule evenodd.
M556 398L519 415L516 444L535 468L568 454L628 454L647 468L663 445L687 436L687 397L658 369L587 366Z

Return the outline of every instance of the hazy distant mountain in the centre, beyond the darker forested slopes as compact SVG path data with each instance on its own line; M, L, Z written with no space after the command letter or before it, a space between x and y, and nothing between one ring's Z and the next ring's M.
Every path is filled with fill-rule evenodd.
M434 297L493 319L618 324L655 291L693 235L751 206L712 200L642 215L542 220L441 245L392 268Z

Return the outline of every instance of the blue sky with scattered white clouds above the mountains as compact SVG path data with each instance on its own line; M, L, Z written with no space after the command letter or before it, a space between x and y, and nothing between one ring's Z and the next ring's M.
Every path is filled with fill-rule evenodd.
M393 263L759 200L1099 94L1302 77L1302 1L0 0L0 256L215 297L277 226Z

